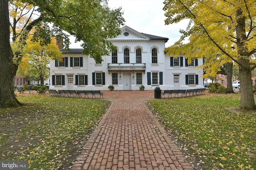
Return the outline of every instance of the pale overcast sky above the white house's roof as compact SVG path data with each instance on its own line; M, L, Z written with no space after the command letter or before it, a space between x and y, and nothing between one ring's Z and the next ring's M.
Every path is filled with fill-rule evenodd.
M173 45L180 39L180 29L186 29L188 21L165 25L164 0L108 0L108 6L112 9L122 8L125 19L124 25L135 29L140 33L156 35L168 38L165 47ZM76 44L72 43L72 46Z

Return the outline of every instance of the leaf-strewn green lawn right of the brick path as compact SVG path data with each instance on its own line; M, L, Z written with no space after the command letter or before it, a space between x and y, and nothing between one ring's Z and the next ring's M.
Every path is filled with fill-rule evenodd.
M150 100L148 105L205 170L256 169L256 111L239 111L239 94ZM193 157L193 158L192 158Z

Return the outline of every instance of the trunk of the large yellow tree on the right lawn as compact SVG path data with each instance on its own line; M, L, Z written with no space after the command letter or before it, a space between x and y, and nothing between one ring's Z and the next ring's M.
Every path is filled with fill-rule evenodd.
M240 78L240 109L256 109L254 94L252 89L252 72L250 70L250 60L246 59L249 56L248 48L246 48L246 30L245 17L242 10L236 11L236 38L238 51L238 70Z

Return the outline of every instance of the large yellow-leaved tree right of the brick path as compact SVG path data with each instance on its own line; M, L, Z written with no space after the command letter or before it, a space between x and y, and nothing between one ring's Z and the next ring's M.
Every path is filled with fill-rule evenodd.
M251 72L256 68L255 0L166 0L166 24L190 20L168 55L186 53L188 59L205 57L207 68L237 63L240 77L240 109L256 109ZM192 35L192 36L191 36ZM182 43L190 37L189 43ZM205 67L205 66L204 66ZM207 70L206 70L207 71Z

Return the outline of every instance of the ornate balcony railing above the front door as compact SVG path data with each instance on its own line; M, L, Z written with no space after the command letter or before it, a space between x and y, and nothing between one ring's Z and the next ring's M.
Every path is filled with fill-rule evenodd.
M108 63L108 69L132 69L132 70L145 70L146 63Z

